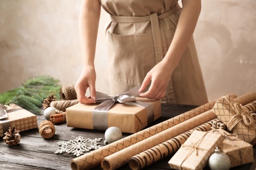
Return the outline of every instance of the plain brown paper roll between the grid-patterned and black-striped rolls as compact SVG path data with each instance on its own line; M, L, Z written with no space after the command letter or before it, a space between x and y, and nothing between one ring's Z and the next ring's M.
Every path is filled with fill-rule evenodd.
M205 124L214 118L217 118L217 116L212 110L203 112L202 114L195 116L194 118L190 118L181 124L170 127L169 129L161 131L152 137L148 137L139 143L133 144L127 148L124 148L123 150L120 150L119 152L116 152L115 154L107 156L102 161L101 167L103 169L117 169L128 163L132 156L135 156L144 150L148 150L153 146L161 144L173 137L176 137L177 135L181 135L181 133L184 133L190 129Z

